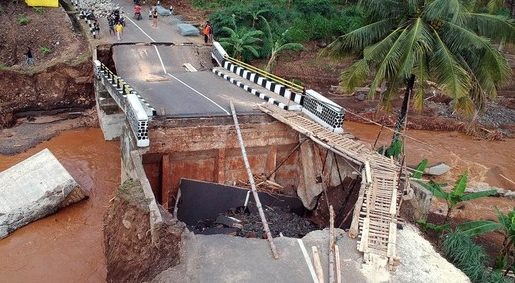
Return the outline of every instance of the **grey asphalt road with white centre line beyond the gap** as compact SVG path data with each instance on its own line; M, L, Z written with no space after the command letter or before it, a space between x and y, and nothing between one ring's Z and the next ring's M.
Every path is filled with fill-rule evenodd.
M131 11L128 1L118 1ZM128 12L127 12L128 13ZM126 13L126 14L127 14ZM146 10L142 12L146 15ZM127 17L127 16L126 16ZM201 37L184 37L170 17L161 17L157 28L145 17L127 18L121 42L173 42L177 45L118 45L113 48L117 74L157 110L158 116L230 115L232 100L238 113L258 113L255 105L263 101L213 74L210 62L199 57ZM108 36L108 35L104 35ZM112 42L118 42L111 38ZM180 45L191 43L193 45ZM190 63L198 72L183 67Z

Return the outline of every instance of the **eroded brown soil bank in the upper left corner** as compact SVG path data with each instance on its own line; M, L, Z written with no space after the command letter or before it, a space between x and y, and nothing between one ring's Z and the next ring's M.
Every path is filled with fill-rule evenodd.
M91 52L66 11L24 1L1 1L0 9L0 128L19 117L94 106ZM26 62L28 48L33 65Z

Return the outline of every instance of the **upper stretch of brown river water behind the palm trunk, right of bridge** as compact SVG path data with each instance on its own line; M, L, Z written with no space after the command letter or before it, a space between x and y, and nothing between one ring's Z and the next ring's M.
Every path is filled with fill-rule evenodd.
M344 128L359 139L374 143L381 127L345 122ZM515 139L504 141L478 140L458 132L408 130L406 134L418 141L406 141L407 164L416 165L422 159L429 164L445 162L452 167L442 181L453 183L465 170L469 170L469 184L515 190ZM384 129L377 147L389 144L392 132ZM503 177L504 176L504 177Z

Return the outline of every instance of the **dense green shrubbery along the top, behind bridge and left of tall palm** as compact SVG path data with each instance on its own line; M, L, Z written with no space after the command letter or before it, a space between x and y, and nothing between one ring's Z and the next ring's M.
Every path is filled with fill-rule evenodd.
M333 0L195 0L193 5L214 12L209 16L215 38L230 35L231 29L260 30L267 34L265 21L272 31L273 41L304 43L311 40L330 42L365 22L365 13L354 4L342 6ZM288 31L287 33L285 33ZM261 44L266 44L262 40ZM270 56L270 48L259 46L259 58ZM248 54L244 56L249 59ZM252 58L255 58L251 54Z

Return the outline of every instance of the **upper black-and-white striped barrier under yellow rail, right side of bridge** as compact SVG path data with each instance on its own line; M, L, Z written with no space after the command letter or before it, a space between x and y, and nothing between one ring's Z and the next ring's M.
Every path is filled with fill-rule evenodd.
M286 99L289 99L297 104L302 105L302 100L304 96L300 93L291 91L282 84L279 84L272 80L268 80L255 72L249 71L246 68L233 64L229 61L225 61L223 63L223 67L242 78L252 81L272 92L279 94L280 96L283 96Z

